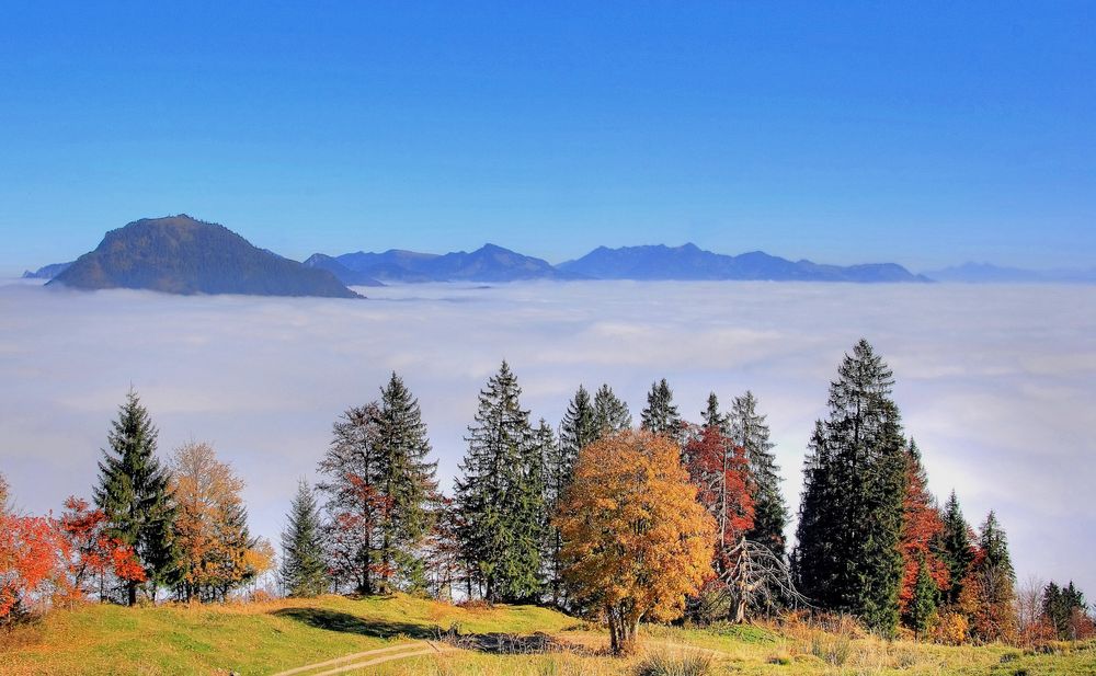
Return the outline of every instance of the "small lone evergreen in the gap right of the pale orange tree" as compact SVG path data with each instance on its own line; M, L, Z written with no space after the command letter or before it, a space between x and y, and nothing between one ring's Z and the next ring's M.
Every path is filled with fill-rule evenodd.
M301 479L282 531L282 586L289 596L317 596L328 588L316 497Z

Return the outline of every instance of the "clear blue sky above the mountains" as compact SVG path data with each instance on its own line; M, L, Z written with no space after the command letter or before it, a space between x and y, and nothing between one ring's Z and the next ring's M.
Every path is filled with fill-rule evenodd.
M694 241L1096 265L1091 1L0 14L4 273L180 211L298 259Z

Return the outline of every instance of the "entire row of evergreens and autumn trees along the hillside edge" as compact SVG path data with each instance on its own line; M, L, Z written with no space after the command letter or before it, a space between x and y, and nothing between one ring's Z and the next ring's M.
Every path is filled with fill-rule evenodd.
M479 393L446 494L419 403L392 374L376 401L334 423L317 485L301 482L290 505L277 578L294 596L550 604L607 619L617 649L640 619L797 608L948 643L1091 633L1072 583L1018 612L1004 529L991 512L975 531L955 492L937 503L893 383L866 341L842 360L810 438L789 551L780 470L751 392L726 410L710 394L690 423L663 379L633 431L608 385L580 386L553 427L522 406L503 363ZM242 483L208 446L185 445L161 468L135 393L109 442L94 509L71 499L57 520L4 513L14 526L0 541L0 615L47 596L219 600L272 565L269 543L248 534ZM61 552L54 564L20 563L46 550Z

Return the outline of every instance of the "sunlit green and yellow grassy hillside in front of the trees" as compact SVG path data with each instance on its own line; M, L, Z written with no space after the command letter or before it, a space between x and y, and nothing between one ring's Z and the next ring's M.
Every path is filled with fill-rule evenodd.
M415 655L411 643L435 628L459 629L458 650ZM500 633L543 632L523 640ZM275 674L374 649L402 646L383 664L333 668L344 674L631 675L652 656L690 655L710 674L788 675L1096 675L1096 645L1062 645L1057 654L1026 654L1006 646L945 648L872 638L824 634L804 627L646 627L643 654L605 656L606 637L573 618L524 606L464 609L406 596L207 607L128 609L91 605L56 611L32 627L0 634L0 674ZM533 651L513 654L515 651ZM409 656L404 656L409 655Z

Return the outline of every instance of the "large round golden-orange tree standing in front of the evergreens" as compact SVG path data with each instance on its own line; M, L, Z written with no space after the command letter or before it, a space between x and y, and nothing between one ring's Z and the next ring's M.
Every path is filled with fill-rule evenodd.
M614 653L635 648L642 619L680 617L711 574L716 524L672 440L606 436L579 454L557 525L580 600L608 618Z

